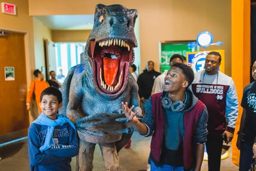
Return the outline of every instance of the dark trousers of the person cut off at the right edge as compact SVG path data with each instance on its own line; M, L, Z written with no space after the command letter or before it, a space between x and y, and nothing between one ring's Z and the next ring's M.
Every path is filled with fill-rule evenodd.
M254 159L252 159L252 156L253 156L252 145L253 145L253 141L251 142L241 141L240 161L239 161L240 171L248 171L248 169L250 168L250 164L253 163L254 161Z

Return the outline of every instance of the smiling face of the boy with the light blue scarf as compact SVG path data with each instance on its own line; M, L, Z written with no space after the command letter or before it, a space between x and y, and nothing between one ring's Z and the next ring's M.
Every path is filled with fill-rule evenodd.
M42 100L40 102L40 108L42 113L48 116L50 119L57 119L57 112L61 108L62 102L59 103L58 99L54 95L44 95L42 96Z

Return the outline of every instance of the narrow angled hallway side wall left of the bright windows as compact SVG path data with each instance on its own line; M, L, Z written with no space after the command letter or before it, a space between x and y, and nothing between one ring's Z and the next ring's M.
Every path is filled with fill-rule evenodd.
M51 30L47 28L40 20L33 17L34 27L34 49L35 49L35 69L41 70L45 66L44 40L51 40ZM46 74L46 73L44 73Z

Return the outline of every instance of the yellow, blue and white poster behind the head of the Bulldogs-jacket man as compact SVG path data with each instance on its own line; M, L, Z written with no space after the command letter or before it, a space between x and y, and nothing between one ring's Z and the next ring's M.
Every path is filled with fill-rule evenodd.
M221 66L219 70L225 73L225 51L224 50L214 50L221 54ZM187 63L191 63L194 72L199 72L204 70L205 57L211 51L200 51L200 52L188 52L186 56Z

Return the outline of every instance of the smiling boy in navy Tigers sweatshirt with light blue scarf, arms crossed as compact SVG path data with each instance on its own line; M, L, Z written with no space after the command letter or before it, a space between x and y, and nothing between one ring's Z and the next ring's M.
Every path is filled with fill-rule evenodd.
M40 95L41 115L31 123L28 149L31 170L71 170L71 157L78 155L75 125L57 112L61 92L49 87Z

